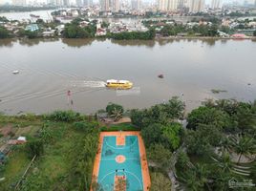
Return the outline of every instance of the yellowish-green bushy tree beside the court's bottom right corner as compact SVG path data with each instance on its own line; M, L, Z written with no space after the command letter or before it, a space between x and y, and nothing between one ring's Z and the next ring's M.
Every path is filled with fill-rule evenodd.
M163 174L159 172L154 172L151 174L151 191L170 191L172 188L172 183L165 177Z

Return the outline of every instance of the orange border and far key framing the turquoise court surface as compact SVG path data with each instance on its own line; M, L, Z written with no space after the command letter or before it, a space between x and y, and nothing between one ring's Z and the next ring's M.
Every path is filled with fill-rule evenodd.
M140 132L129 131L129 132L101 132L99 135L98 148L96 152L96 159L93 170L93 180L97 180L99 165L101 159L101 149L103 145L103 138L108 136L116 136L117 137L117 145L125 145L125 137L126 136L137 136L139 140L139 157L140 157L140 165L141 165L141 174L143 180L143 191L148 191L151 185L148 164L146 159L146 150L144 146L143 139L140 136ZM91 188L91 191L93 189Z

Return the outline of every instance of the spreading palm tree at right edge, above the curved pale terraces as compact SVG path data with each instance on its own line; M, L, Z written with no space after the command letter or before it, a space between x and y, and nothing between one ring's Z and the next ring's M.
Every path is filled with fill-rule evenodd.
M232 137L232 146L235 149L235 152L239 154L237 163L240 162L242 155L254 154L256 152L256 144L254 138L248 137Z

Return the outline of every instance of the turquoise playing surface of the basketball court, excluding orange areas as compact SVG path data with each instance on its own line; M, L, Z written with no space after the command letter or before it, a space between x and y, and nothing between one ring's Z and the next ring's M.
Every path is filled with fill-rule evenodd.
M125 161L117 163L116 157L122 155ZM117 146L116 137L104 137L97 182L102 190L113 191L115 176L125 176L127 191L142 191L143 181L139 159L137 136L127 136L124 146Z

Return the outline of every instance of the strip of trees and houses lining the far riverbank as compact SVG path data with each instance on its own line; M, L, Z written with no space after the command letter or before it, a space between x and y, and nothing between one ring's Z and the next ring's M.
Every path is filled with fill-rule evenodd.
M255 22L256 19L252 20ZM0 17L0 38L11 37L63 37L63 38L110 38L115 40L152 40L155 36L188 36L188 37L228 37L236 32L245 30L246 34L256 36L256 26L250 24L250 20L245 19L234 20L235 27L224 26L222 20L216 17L206 17L203 19L194 18L188 23L179 23L170 20L144 20L141 25L147 28L147 31L112 31L109 23L101 22L97 33L98 20L89 20L77 17L70 23L65 24L62 31L58 31L57 27L61 24L59 20L53 19L51 22L45 22L42 19L37 19L34 24L38 26L36 31L26 30L28 24L21 24L18 21L9 21L6 17ZM9 23L5 28L5 23ZM13 26L10 28L10 25ZM64 25L64 24L63 24ZM10 29L8 29L10 28ZM126 26L119 26L126 28ZM240 30L240 31L239 31ZM253 31L255 30L255 31ZM53 32L54 31L54 32ZM51 32L51 34L44 34Z

